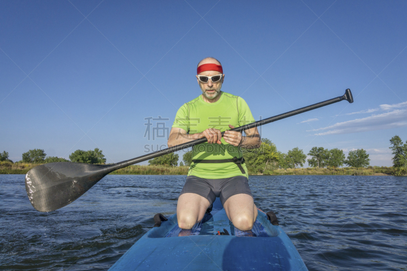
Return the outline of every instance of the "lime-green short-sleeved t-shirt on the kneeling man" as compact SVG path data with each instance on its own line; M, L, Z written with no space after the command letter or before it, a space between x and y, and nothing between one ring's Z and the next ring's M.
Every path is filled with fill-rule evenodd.
M187 134L195 134L208 128L219 129L221 132L230 130L229 124L234 127L253 123L254 118L249 106L239 96L221 92L221 96L215 103L203 101L202 95L184 104L178 110L172 128L181 128ZM222 144L202 143L193 147L193 160L223 160L234 157L241 158L242 152L238 147L226 143ZM235 163L192 163L188 172L201 178L219 179L233 176L246 176L246 165L242 165L246 174L243 174Z

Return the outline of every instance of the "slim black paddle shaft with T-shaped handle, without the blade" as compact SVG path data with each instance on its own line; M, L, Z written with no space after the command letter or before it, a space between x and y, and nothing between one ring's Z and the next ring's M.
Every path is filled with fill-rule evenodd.
M343 101L343 100L346 100L346 101L348 101L350 103L353 103L353 97L352 97L352 93L351 93L350 89L346 89L346 92L345 92L345 94L343 96L339 96L339 97L336 97L336 98L333 98L333 99L330 99L330 100L327 100L327 101L324 101L324 102L320 102L320 103L316 103L316 104L309 105L309 106L306 106L306 107L302 107L302 108L299 108L299 109L296 109L296 110L293 110L293 111L289 111L289 112L286 112L286 113L283 113L283 114L279 114L279 115L276 115L276 116L272 116L272 117L269 117L269 118L261 119L260 121L257 121L257 122L251 123L251 124L247 124L247 125L244 125L244 126L241 126L241 127L236 127L234 129L231 129L230 131L243 132L243 131L248 130L248 129L252 129L252 128L255 128L255 127L258 127L258 126L261 126L261 125L276 122L276 121L279 121L280 119L283 119L283 118L294 116L294 115L304 113L304 112L307 112L307 111L310 111L310 110L313 110L313 109L316 109L316 108L319 108L319 107L334 104L334 103L337 103L337 102L340 102L340 101ZM224 132L222 132L222 136L223 136L223 134L224 134ZM146 160L150 160L150 159L153 159L153 158L165 155L165 154L178 152L179 150L182 150L184 148L189 148L189 147L192 147L192 146L197 145L197 144L205 143L207 141L208 141L208 139L206 137L204 137L204 138L196 139L196 140L186 142L186 143L183 143L183 144L180 144L180 145L176 145L176 146L172 146L172 147L165 148L165 149L162 149L162 150L158 150L157 152L154 152L154 153L151 153L151 154L143 155L143 156L140 156L140 157L137 157L137 158L133 158L133 159L130 159L130 160L126 160L126 161L114 164L114 165L112 165L111 168L109 167L109 171L110 170L114 171L114 170L117 170L117 169L120 169L120 168L123 168L123 167L127 167L127 166L137 164L137 163L140 163L140 162L143 162L143 161L146 161Z

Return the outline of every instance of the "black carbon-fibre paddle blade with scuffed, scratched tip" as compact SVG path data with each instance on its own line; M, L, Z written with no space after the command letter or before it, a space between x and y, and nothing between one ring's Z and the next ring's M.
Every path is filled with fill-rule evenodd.
M83 195L110 172L108 167L71 162L40 165L25 175L25 189L35 209L50 212Z

